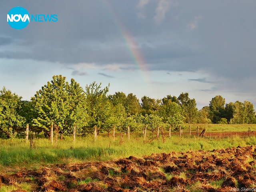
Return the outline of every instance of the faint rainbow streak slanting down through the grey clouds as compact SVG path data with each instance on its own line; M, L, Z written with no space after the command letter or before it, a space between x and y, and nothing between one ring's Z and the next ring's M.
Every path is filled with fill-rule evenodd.
M126 44L126 49L128 51L128 54L130 57L134 60L135 64L138 65L138 68L140 72L142 73L142 77L144 81L147 83L147 85L150 84L150 76L148 73L148 65L146 63L146 60L144 59L144 56L142 52L140 51L140 48L138 48L133 36L131 33L126 29L124 24L118 19L118 15L114 11L114 8L112 4L108 0L100 0L102 2L106 9L108 10L110 16L117 21L117 30L120 33L120 36L123 38L125 44Z

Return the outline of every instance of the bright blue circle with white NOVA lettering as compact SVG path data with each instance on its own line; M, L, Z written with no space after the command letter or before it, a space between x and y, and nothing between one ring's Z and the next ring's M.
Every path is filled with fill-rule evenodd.
M7 22L14 29L23 29L30 22L30 16L23 7L14 7L7 14Z

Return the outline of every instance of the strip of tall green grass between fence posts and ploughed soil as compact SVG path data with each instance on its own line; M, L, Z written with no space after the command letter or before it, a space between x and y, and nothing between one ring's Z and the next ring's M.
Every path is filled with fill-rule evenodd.
M152 135L148 136L148 140ZM131 135L120 142L117 137L115 142L112 138L99 136L97 141L93 137L76 138L65 136L64 140L58 140L57 144L50 144L45 138L34 139L34 146L24 139L0 139L0 165L20 166L31 164L56 164L76 161L102 161L112 160L128 156L151 155L152 153L186 152L191 150L213 150L232 146L256 145L256 137L228 137L228 138L200 138L182 137L173 135L171 139L162 137L159 140L143 142L141 135ZM72 146L72 147L71 147Z

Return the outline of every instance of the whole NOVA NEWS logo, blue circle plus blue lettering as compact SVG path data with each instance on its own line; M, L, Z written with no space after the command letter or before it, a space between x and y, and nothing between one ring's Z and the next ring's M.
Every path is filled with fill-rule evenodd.
M23 29L25 28L28 23L30 22L56 22L58 21L58 15L42 15L36 14L32 15L31 17L28 11L23 7L14 7L12 8L7 14L7 22L8 24L14 29Z

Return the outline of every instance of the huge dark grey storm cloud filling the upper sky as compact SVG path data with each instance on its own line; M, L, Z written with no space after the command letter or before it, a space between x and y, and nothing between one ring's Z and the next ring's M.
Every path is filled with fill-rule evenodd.
M236 81L254 76L255 1L185 0L174 6L174 0L166 0L168 9L162 6L162 10L158 7L163 1L144 2L140 6L139 1L128 0L2 2L0 36L10 38L0 38L0 58L104 67L134 64L138 54L149 70L204 70ZM6 22L6 13L14 6L30 14L58 14L58 22L31 22L14 30ZM125 42L129 38L124 32L134 44ZM16 49L5 49L11 42Z

